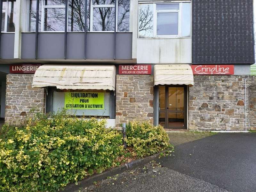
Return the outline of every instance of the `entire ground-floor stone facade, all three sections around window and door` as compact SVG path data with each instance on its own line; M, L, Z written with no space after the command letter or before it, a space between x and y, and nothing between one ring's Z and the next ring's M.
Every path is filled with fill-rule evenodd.
M188 87L189 130L256 130L256 76L195 75ZM44 112L45 90L32 88L33 74L8 74L5 123L20 125L31 109ZM154 76L116 75L116 128L154 117ZM157 110L155 110L157 111Z

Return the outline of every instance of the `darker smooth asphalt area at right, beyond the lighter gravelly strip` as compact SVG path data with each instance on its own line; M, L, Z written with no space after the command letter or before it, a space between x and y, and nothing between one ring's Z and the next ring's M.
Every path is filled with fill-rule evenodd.
M256 133L218 133L175 147L158 160L228 191L256 192Z

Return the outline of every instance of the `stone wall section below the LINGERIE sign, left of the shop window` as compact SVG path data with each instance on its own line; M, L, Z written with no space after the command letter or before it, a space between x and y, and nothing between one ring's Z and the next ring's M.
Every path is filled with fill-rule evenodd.
M30 109L44 112L44 89L32 88L33 74L6 76L5 123L20 125Z

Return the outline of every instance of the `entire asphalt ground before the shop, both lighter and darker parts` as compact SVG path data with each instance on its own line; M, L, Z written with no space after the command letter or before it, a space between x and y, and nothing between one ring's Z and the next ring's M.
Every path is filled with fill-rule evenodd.
M170 137L177 145L177 135ZM255 162L256 133L218 133L177 145L172 156L80 191L255 192Z

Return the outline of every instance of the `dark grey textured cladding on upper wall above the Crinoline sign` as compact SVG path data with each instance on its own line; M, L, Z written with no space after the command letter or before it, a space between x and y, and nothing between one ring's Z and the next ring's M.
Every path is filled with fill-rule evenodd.
M253 0L192 1L192 63L254 63Z

